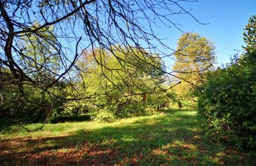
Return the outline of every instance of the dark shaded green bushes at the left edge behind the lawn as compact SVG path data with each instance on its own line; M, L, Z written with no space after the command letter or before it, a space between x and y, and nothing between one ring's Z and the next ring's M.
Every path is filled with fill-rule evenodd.
M23 94L20 94L20 90L17 86L3 86L1 88L3 88L1 92L4 96L4 102L0 106L2 118L21 122L31 121L35 123L44 121L49 111L51 111L52 102L54 102L54 111L52 112L59 114L62 110L61 106L64 101L61 99L54 100L52 96L42 89L27 85L23 87ZM63 98L63 93L60 88L55 87L49 90L59 98ZM52 118L53 117L54 116L52 116Z

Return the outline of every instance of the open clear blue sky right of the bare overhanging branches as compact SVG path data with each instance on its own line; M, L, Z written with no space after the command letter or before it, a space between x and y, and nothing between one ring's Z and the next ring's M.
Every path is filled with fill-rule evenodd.
M188 16L174 18L184 31L191 31L212 40L216 46L216 56L219 64L228 63L235 50L243 50L244 27L252 15L256 15L256 0L198 0L198 3L184 3L186 10L200 22L198 24ZM182 33L173 29L161 28L160 36L168 37L167 45L177 47L176 42ZM172 63L172 62L169 62Z

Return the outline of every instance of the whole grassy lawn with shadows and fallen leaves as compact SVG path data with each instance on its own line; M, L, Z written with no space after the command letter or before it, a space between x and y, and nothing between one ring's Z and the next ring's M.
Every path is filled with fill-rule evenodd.
M41 124L29 124L36 128ZM166 110L115 123L46 124L0 134L2 165L255 165L253 158L204 137L193 110Z

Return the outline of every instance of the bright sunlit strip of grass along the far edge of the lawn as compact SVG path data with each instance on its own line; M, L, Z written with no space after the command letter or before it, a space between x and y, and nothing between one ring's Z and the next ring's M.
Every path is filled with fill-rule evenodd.
M155 125L157 123L159 124L166 124L172 123L172 121L182 121L182 116L193 116L196 114L196 111L186 111L182 110L180 112L168 112L167 114L159 113L154 114L151 116L141 116L141 117L130 117L126 119L120 119L114 123L100 123L97 121L84 121L84 122L63 122L63 123L56 123L56 124L45 124L44 128L42 130L38 130L36 132L30 132L28 133L23 128L17 127L17 126L11 126L10 132L1 133L0 137L3 139L15 139L17 137L54 137L54 136L63 136L63 135L70 135L70 133L75 133L78 130L97 130L100 128L105 127L122 127L127 125L132 125L134 128L136 126L140 126L141 124L147 124L149 126ZM176 125L176 124L175 124ZM29 128L30 130L34 130L36 128L40 128L42 124L36 123L36 124L26 124L26 128ZM188 128L192 131L197 131L196 128L193 128L192 126ZM173 128L173 124L168 127L168 130L175 130ZM15 132L13 132L15 131Z

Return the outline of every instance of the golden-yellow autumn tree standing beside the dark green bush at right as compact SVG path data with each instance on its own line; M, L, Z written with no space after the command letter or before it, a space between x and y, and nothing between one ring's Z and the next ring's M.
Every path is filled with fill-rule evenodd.
M197 33L185 33L180 36L175 52L173 70L182 81L175 91L183 97L188 97L195 86L204 79L204 73L212 69L216 62L214 44Z

